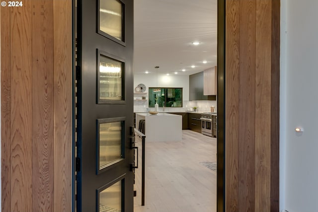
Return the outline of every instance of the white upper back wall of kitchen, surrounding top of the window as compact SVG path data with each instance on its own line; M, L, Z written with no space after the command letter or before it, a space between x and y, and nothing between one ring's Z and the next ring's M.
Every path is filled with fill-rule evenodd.
M160 75L158 80L156 75L134 74L134 88L138 84L144 84L147 87L182 87L183 100L189 100L189 76L188 75Z

